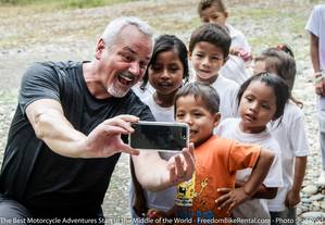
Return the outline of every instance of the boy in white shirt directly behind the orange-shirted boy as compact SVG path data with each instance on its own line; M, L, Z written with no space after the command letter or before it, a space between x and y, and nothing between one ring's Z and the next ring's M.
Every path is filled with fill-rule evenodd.
M203 24L193 30L189 41L189 59L196 80L207 83L220 95L222 120L237 115L238 84L218 74L228 59L229 35L217 24Z

